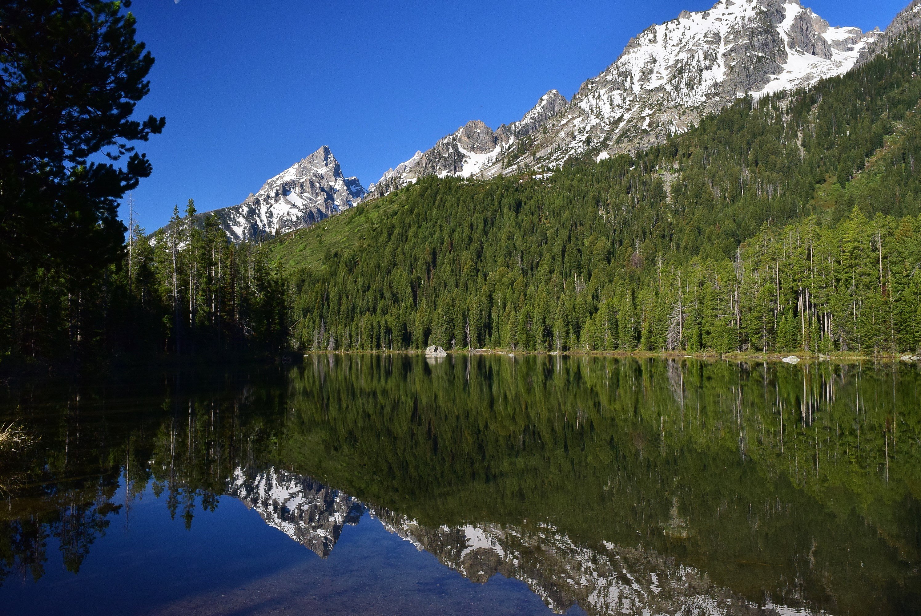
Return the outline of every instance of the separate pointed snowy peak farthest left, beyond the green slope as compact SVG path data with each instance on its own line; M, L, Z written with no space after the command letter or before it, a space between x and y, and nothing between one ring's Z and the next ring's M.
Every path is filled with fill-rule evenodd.
M235 242L301 227L357 205L367 195L355 177L345 177L327 146L262 184L239 206L216 209L224 231Z

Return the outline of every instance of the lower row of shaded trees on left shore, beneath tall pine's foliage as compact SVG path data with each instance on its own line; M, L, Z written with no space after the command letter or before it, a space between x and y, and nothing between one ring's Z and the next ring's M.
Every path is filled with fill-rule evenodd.
M74 362L277 354L286 286L258 245L233 244L192 200L147 236L133 225L114 264L27 271L0 292L0 361ZM87 246L87 250L92 250Z

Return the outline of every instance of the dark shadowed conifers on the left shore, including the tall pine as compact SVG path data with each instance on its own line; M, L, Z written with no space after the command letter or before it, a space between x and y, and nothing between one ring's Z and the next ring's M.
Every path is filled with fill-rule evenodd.
M258 246L192 225L191 201L153 238L118 218L153 170L136 144L166 124L134 119L154 58L130 6L0 5L0 371L286 346Z

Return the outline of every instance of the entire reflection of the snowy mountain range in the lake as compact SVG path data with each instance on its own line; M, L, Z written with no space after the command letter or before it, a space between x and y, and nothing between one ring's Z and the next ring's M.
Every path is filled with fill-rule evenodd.
M366 507L315 480L270 468L255 474L238 468L227 493L262 515L272 527L325 558L346 524L368 511L383 527L428 551L472 582L495 574L523 581L557 613L579 605L589 614L809 614L802 609L757 606L729 588L714 585L693 567L642 547L607 541L596 548L578 545L549 524L522 527L468 524L424 527L383 508ZM690 529L678 504L663 524L672 538Z

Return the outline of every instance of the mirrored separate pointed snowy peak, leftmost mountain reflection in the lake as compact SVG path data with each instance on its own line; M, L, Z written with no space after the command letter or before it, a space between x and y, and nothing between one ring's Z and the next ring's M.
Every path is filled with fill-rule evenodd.
M343 492L321 483L270 468L248 477L238 468L227 486L247 507L262 515L265 523L316 552L330 555L346 524L357 524L365 507Z

